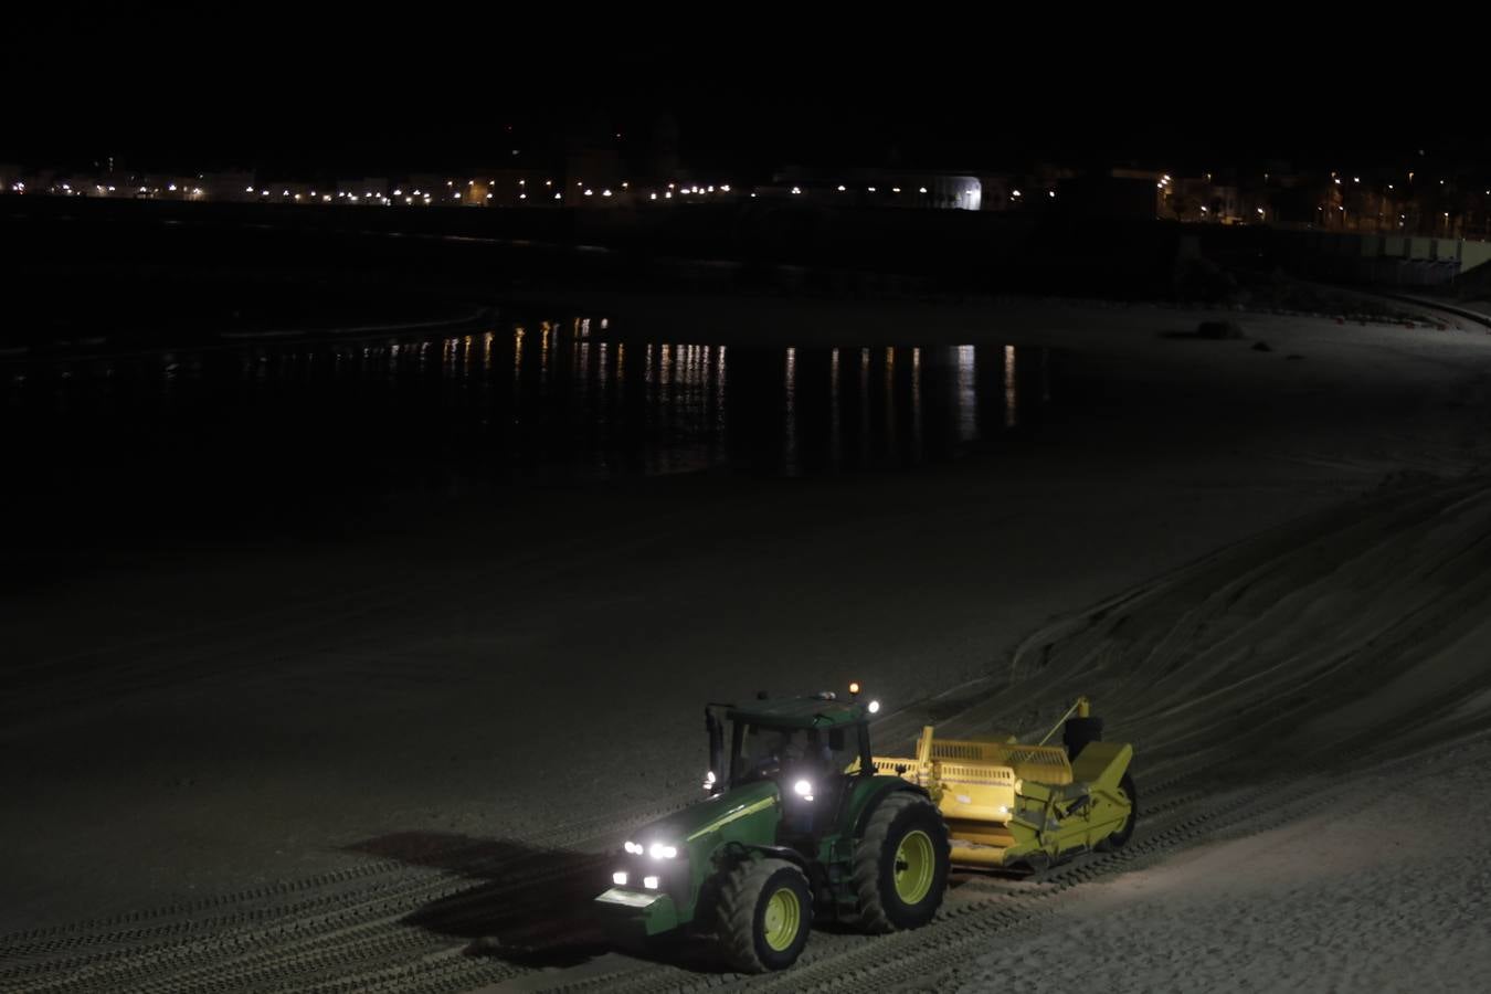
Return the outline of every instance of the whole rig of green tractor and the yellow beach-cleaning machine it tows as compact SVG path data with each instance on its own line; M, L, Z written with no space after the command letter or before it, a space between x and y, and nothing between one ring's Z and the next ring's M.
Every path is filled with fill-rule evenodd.
M1036 744L938 741L927 726L915 756L877 757L880 705L857 693L705 706L710 797L626 842L595 899L613 939L713 934L735 970L781 970L814 921L927 924L953 863L1039 870L1133 835L1133 747L1102 741L1085 697Z

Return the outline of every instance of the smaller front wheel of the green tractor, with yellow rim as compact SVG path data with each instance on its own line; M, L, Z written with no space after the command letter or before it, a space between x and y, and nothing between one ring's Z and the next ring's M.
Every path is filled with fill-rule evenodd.
M720 881L719 949L741 973L784 970L808 945L813 891L786 860L744 860Z

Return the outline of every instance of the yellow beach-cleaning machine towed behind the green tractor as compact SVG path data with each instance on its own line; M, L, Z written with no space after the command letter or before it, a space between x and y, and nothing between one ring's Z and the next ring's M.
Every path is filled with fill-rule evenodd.
M1045 745L1063 724L1063 745ZM1102 741L1102 720L1078 697L1035 745L1014 736L935 739L926 726L915 757L877 756L874 763L877 773L930 794L947 821L953 863L1041 870L1129 842L1139 814L1132 759L1132 745Z

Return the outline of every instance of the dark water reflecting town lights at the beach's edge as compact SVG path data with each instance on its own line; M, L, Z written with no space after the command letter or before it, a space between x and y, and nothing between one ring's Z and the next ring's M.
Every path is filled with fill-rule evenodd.
M907 468L1039 417L1051 382L1042 350L638 344L599 319L3 373L9 520L79 528L513 478Z

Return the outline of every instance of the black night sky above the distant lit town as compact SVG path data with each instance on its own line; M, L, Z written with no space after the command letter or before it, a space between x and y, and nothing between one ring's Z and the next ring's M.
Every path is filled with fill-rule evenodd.
M813 25L777 10L587 10L573 22L498 7L18 22L0 161L438 168L617 133L635 148L663 122L684 162L756 174L787 162L1200 171L1397 167L1418 149L1442 167L1491 158L1476 60L1396 25L1388 46L1361 21L1348 33L1173 13L1078 34L1077 6L966 25L951 9ZM1422 69L1393 63L1394 48L1421 54Z

